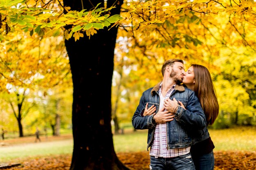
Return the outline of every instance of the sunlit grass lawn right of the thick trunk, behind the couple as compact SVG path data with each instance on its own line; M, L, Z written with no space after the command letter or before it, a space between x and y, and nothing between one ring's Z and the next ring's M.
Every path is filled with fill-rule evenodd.
M209 129L209 133L215 145L214 151L256 151L256 126L238 126L222 130ZM145 151L146 142L146 130L137 130L135 133L126 135L114 135L117 152Z

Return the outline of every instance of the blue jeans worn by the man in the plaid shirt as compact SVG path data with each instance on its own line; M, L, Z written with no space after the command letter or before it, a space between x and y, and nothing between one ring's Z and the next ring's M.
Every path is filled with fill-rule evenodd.
M150 156L150 170L195 170L191 154L173 158Z

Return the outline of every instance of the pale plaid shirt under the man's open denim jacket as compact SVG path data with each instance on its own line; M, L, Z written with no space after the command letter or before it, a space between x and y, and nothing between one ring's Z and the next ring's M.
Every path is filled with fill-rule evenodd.
M167 99L171 96L171 93L173 92L175 88L175 85L171 87L171 89L167 92L164 99ZM162 83L159 86L159 96L161 100L161 94L162 94ZM161 103L161 102L160 102ZM162 105L159 105L160 108L163 108L163 102ZM154 141L150 147L150 154L154 157L164 157L164 158L171 158L171 157L177 157L180 155L185 155L190 152L190 147L188 148L177 148L177 149L168 149L167 148L167 136L166 136L166 123L164 124L157 124L155 126L155 134L154 134Z

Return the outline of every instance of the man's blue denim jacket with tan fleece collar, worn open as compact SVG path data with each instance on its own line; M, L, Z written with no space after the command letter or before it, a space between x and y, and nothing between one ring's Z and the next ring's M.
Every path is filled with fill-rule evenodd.
M153 142L156 124L152 123L153 115L143 116L143 113L147 103L148 108L153 104L156 106L155 113L159 111L158 92L160 83L143 92L139 106L137 106L132 117L132 125L135 129L148 129L147 150ZM182 102L186 110L179 106L175 113L175 119L166 123L168 149L187 148L191 146L192 141L193 143L197 143L198 141L207 139L209 132L207 130L204 111L194 91L182 85L176 85L170 99L173 99L173 97L177 101Z

